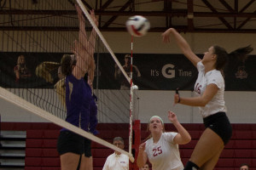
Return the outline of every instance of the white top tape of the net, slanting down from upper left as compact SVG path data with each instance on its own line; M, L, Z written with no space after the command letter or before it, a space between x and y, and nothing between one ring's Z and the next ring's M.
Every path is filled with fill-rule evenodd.
M108 42L106 41L106 39L102 36L102 32L98 29L98 27L96 26L96 24L94 23L94 21L91 19L90 14L87 12L86 8L84 7L84 3L81 2L81 0L77 0L77 3L79 3L79 7L83 10L85 16L87 17L87 19L90 21L91 26L93 26L93 28L95 29L95 31L97 32L98 36L101 38L102 42L104 43L105 47L108 49L108 52L111 54L113 60L115 61L115 63L117 65L119 65L119 69L123 72L126 80L128 82L130 82L130 77L128 77L128 75L126 74L123 66L119 63L119 59L116 58L115 54L113 54L112 49L109 47Z

